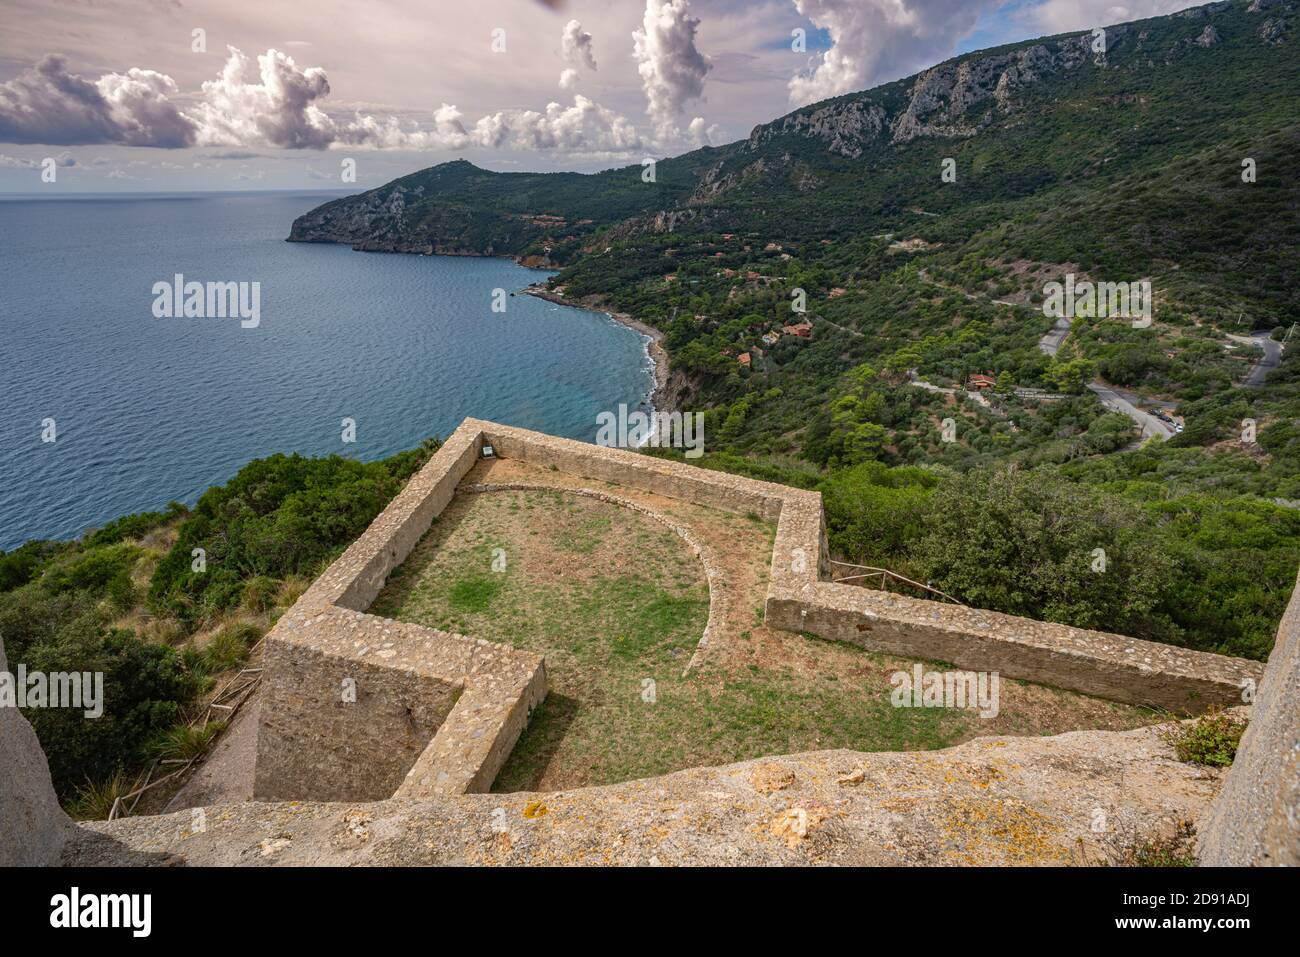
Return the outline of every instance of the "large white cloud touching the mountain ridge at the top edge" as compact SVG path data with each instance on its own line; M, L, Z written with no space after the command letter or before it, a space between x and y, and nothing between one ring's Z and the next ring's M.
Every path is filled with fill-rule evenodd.
M1054 0L1049 0L1053 3ZM1002 0L794 0L831 34L831 49L790 79L802 107L905 77L952 55L982 13Z

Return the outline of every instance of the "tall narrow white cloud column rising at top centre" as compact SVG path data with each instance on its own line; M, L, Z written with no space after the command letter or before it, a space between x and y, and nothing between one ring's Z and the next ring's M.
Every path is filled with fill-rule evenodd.
M698 29L688 0L646 0L641 27L632 34L646 112L660 139L680 135L677 117L688 100L703 95L705 77L712 69L696 48Z

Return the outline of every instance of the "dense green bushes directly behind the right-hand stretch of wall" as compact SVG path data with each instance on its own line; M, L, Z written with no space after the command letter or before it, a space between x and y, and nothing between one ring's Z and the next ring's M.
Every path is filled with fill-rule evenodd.
M831 546L853 562L978 607L1221 654L1268 657L1300 567L1300 511L1249 495L879 463L820 488Z

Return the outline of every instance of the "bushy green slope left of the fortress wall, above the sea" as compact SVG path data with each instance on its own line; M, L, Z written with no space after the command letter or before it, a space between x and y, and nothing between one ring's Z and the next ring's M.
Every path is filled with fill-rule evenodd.
M121 518L75 542L0 553L10 672L101 672L103 715L27 707L60 796L104 813L159 754L190 739L214 683L437 449L381 462L273 455L194 510ZM205 553L196 571L195 549ZM178 744L178 741L181 744ZM108 801L94 798L108 794Z

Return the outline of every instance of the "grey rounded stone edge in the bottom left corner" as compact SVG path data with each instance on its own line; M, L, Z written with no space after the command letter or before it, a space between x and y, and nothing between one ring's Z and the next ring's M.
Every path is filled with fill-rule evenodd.
M0 671L8 670L0 638ZM36 732L17 707L0 705L0 867L57 863L73 831Z

